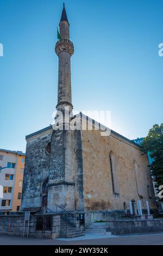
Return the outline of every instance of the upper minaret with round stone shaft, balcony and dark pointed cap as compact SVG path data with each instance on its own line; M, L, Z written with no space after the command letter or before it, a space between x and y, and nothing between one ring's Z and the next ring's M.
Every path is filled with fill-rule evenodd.
M59 27L61 39L55 45L55 52L59 57L58 104L56 108L57 110L64 110L65 106L69 106L70 111L72 111L71 56L74 53L74 47L70 41L70 25L66 15L65 5L62 10Z

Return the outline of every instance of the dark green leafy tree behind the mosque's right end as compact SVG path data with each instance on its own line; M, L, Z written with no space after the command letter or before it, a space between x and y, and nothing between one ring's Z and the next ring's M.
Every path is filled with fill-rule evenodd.
M142 142L143 152L149 152L153 162L149 165L155 181L155 187L163 185L163 123L154 124ZM159 189L158 189L159 190Z

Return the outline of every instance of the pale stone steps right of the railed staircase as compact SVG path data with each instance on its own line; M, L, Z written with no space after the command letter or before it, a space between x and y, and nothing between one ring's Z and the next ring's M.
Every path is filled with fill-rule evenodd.
M111 232L106 232L106 223L103 222L92 222L86 229L85 234L101 234L111 235Z

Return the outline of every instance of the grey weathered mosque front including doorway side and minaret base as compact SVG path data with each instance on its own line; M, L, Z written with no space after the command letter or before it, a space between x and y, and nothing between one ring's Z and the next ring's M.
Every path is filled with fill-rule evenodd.
M30 136L30 135L29 135ZM47 145L50 144L50 152ZM39 210L42 185L48 178L47 207L84 210L80 130L52 130L27 138L21 210Z

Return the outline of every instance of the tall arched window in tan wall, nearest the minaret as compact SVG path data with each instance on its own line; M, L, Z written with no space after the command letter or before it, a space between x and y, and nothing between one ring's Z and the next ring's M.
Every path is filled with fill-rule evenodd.
M116 162L115 156L112 151L109 154L109 162L110 162L110 174L111 174L111 185L112 185L112 192L114 194L120 193L119 183L118 183L118 176L116 171Z

